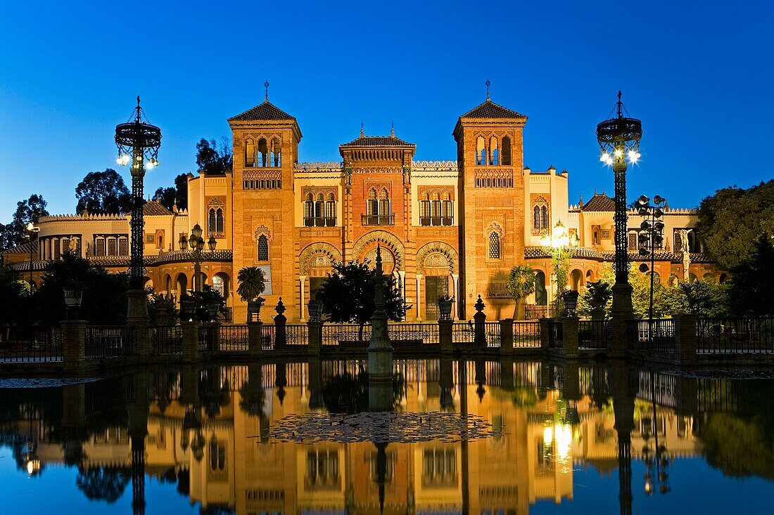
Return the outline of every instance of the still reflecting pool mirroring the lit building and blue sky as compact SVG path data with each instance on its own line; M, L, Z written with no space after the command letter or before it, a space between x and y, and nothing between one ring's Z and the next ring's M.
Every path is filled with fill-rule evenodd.
M0 379L0 513L774 513L774 380L434 359L369 385L366 369Z

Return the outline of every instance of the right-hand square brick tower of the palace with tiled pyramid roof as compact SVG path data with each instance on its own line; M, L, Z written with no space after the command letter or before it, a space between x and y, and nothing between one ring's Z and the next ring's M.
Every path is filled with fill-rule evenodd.
M487 81L488 87L488 81ZM459 316L470 319L478 293L488 307L512 305L508 273L524 261L524 154L527 117L486 101L454 127L462 212Z

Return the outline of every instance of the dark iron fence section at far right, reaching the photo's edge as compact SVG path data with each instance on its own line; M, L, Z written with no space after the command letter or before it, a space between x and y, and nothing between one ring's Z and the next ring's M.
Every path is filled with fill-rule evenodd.
M700 318L696 333L700 354L774 353L774 318Z

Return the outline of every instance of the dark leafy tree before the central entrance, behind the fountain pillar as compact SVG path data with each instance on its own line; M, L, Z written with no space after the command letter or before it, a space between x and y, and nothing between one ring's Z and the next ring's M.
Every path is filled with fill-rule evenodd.
M358 339L363 339L363 326L371 319L376 305L374 302L376 271L368 261L350 261L349 264L334 264L334 270L317 290L317 302L331 322L358 324ZM406 305L398 292L392 275L385 277L385 312L389 319L399 322L406 316Z

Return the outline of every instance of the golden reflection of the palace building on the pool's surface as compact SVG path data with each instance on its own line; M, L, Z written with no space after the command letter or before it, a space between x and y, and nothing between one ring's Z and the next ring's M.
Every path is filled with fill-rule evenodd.
M406 378L398 410L476 414L502 435L388 445L385 513L528 513L536 501L573 498L574 463L601 473L617 466L615 418L606 404L598 406L600 395L581 391L577 400L567 401L558 390L538 387L538 363L516 363L515 377L505 380L502 367L511 366L440 360L396 364ZM375 445L265 438L286 415L325 411L329 378L357 370L353 363L312 362L173 374L164 398L152 401L147 411L146 473L179 483L185 476L187 486L179 489L203 508L240 514L377 513ZM692 418L659 407L654 424L651 413L649 401L635 401L633 459L642 458L656 434L671 455L697 453ZM19 434L24 427L19 422ZM37 449L44 464L66 460L62 445L41 442ZM111 425L70 454L80 456L84 469L128 468L130 450L126 429Z

